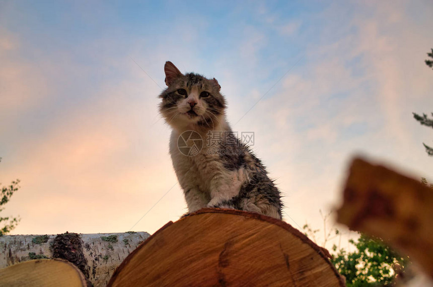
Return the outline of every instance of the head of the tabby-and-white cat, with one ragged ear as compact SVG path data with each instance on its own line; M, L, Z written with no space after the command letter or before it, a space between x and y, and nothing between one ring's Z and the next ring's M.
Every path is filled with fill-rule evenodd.
M160 112L174 129L213 130L224 121L226 100L215 78L183 75L171 62L164 66L167 89L161 94Z

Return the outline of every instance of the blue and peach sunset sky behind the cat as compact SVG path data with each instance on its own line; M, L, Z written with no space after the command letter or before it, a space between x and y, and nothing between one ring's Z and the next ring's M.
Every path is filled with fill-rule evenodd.
M154 233L185 213L164 63L215 77L232 129L320 228L362 154L433 181L430 1L0 1L0 182L12 234Z

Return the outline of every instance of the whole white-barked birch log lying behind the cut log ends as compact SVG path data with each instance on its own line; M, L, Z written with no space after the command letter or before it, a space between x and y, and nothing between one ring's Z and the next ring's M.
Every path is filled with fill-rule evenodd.
M23 261L61 258L75 264L95 287L106 286L114 270L147 232L0 237L0 268Z

